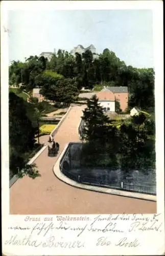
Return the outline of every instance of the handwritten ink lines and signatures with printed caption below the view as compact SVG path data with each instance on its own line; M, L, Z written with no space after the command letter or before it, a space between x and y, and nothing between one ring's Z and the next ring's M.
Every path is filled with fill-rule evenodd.
M5 246L35 248L83 248L88 237L96 247L136 248L149 232L161 233L160 214L98 216L26 216L21 224L9 225ZM92 234L92 236L91 236ZM137 236L138 234L138 236ZM139 236L140 234L140 236Z

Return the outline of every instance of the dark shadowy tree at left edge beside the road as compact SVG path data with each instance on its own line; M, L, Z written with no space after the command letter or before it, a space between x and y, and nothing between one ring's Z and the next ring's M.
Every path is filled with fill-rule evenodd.
M26 105L22 98L9 93L9 145L10 169L16 173L24 164L23 154L34 146L35 128L27 116Z

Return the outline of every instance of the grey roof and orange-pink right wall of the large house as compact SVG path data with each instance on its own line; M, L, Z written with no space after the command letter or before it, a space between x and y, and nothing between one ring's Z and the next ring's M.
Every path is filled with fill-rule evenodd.
M120 103L120 108L122 111L125 111L128 106L128 87L104 87L101 92L112 92L115 96L115 100L118 100Z

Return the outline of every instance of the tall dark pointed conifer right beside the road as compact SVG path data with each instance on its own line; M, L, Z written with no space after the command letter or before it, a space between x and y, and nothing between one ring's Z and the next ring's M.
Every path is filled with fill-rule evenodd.
M118 166L119 132L112 126L108 117L98 103L96 96L87 101L82 120L82 164L86 166L110 167Z

